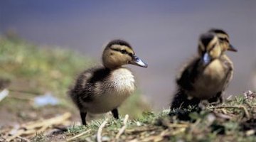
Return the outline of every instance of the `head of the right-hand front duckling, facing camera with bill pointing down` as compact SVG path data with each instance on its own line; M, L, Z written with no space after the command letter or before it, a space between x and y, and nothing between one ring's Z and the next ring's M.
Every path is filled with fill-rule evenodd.
M222 55L222 49L217 35L214 33L203 33L198 41L198 53L204 65Z

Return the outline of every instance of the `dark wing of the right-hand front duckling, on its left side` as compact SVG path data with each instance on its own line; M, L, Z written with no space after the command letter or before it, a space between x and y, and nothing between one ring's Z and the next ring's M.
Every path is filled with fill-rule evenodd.
M181 75L176 78L176 83L179 87L186 90L193 89L192 84L195 82L198 75L199 62L200 58L195 58L183 68Z

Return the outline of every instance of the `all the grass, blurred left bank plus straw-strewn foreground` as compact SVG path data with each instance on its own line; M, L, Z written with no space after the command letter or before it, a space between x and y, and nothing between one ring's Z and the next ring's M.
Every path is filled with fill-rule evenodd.
M79 117L66 92L76 75L92 64L92 60L70 50L56 47L38 48L16 37L0 36L0 78L11 82L9 97L0 102L1 124L18 123L48 118L71 111ZM32 100L39 94L51 92L62 104L33 107ZM120 108L121 119L112 116L90 121L87 126L73 125L67 131L50 136L38 133L31 141L66 141L88 131L72 141L95 141L99 126L107 118L102 131L104 141L256 141L256 94L251 99L243 95L232 97L223 104L206 106L188 114L190 121L168 116L169 110L149 111L139 92ZM117 140L124 114L129 112L127 128ZM0 126L0 132L3 130ZM1 141L2 133L0 133ZM18 140L17 140L18 141Z

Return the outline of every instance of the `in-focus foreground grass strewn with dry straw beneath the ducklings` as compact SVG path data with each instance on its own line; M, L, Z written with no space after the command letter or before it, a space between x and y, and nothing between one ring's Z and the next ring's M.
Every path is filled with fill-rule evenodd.
M256 95L256 94L255 94ZM255 96L256 97L256 96ZM245 114L249 113L249 117ZM256 141L256 99L244 96L233 97L217 106L208 105L197 113L191 112L190 121L181 121L168 116L169 110L157 114L145 112L139 119L129 119L124 134L117 140L121 120L110 118L103 129L106 141ZM64 133L72 137L91 130L74 141L95 141L102 120L92 121L88 126L73 126Z

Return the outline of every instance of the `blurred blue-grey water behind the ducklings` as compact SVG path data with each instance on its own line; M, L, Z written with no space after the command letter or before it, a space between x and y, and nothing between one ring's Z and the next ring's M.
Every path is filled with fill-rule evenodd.
M256 1L1 0L0 34L10 29L36 44L70 48L100 62L102 45L131 43L149 67L129 67L154 109L169 106L182 63L196 54L198 35L209 28L230 34L235 74L228 94L252 88L256 53ZM43 47L43 46L42 46Z

